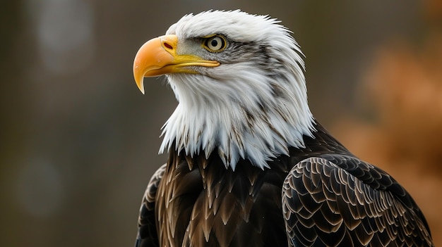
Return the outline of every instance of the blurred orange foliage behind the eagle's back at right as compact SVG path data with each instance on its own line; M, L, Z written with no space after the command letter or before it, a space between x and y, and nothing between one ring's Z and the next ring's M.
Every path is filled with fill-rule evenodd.
M405 186L442 246L442 34L419 47L394 42L379 49L359 91L374 118L346 117L333 132Z

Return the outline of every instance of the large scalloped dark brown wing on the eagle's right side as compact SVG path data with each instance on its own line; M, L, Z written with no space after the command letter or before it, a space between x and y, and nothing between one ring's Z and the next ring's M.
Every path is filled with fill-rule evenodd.
M352 156L297 163L282 188L282 211L291 246L434 246L407 191Z

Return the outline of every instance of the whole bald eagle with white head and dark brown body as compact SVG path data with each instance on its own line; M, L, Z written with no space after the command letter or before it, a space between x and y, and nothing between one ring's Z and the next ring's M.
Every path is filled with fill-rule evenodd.
M280 22L242 11L185 15L136 54L178 106L136 246L434 246L410 194L313 118L304 62Z

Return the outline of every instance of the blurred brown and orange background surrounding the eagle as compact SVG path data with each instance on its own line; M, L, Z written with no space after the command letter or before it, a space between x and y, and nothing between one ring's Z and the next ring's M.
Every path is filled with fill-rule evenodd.
M177 102L138 48L186 13L269 14L306 55L313 114L390 172L442 245L442 1L14 0L0 10L0 246L133 246Z

